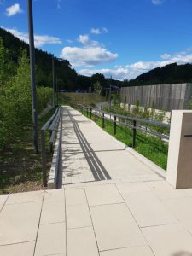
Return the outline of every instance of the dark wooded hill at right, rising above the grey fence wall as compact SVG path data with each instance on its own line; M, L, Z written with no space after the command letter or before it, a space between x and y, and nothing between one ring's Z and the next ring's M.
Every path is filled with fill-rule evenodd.
M177 65L172 63L165 67L157 67L139 75L136 79L124 81L123 86L150 84L180 84L192 82L192 64Z

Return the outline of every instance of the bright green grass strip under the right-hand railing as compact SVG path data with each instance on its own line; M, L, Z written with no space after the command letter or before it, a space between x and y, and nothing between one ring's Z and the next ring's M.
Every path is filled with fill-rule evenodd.
M93 113L92 120L95 120ZM84 115L86 116L86 113ZM90 113L88 117L90 118ZM96 124L102 127L102 118L97 117ZM113 127L113 122L105 119L105 128L103 130L114 136ZM114 137L120 142L125 143L125 145L132 147L132 130L130 128L117 124L117 132ZM135 150L143 154L148 160L153 161L157 166L166 170L168 145L160 140L159 137L150 136L141 131L137 131Z

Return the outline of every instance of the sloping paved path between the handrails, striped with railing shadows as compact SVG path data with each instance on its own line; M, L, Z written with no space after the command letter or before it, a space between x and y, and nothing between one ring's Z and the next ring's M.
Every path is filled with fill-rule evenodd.
M63 108L63 185L162 180L94 122Z

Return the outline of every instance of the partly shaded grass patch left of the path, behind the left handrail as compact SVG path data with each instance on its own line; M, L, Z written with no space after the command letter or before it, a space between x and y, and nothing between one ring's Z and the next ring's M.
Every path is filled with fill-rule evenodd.
M54 113L51 110L44 118L38 120L38 141L40 147L40 129ZM49 134L47 136L49 149ZM41 148L39 148L39 151ZM51 154L47 151L48 173ZM22 139L11 148L0 152L0 194L43 189L41 154L33 149L32 125L23 127Z

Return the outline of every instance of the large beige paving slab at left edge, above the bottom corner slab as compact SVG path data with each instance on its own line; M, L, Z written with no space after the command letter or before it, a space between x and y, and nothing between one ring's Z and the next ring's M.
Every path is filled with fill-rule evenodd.
M0 245L34 241L42 202L6 205L0 214Z

